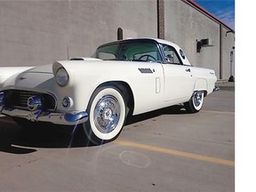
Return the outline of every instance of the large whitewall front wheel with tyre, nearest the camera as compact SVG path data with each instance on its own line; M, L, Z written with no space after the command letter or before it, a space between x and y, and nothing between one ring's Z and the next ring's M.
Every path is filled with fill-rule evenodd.
M94 144L115 140L122 131L126 107L122 93L116 87L100 87L92 94L84 123L84 132Z

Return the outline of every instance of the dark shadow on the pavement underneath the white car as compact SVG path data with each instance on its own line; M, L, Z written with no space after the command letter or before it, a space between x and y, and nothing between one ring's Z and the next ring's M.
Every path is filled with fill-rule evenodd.
M129 117L125 125L161 115L186 113L182 107L173 106ZM21 128L10 117L1 117L0 124L0 151L7 153L28 154L36 152L35 148L84 148L95 146L85 136L83 125L31 124Z

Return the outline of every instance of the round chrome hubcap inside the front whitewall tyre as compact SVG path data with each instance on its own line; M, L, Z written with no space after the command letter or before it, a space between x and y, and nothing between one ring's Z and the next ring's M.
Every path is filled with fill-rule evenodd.
M118 124L120 105L112 95L106 95L99 100L93 111L94 124L100 132L112 132Z

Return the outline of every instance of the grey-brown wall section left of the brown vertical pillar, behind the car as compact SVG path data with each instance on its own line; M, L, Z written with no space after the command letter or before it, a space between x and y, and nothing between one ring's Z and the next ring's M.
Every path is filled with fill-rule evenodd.
M91 56L117 28L156 37L156 1L0 1L0 26L0 66L38 66Z

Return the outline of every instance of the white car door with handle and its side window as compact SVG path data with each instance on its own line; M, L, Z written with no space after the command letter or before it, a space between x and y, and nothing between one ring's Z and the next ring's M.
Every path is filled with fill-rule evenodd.
M188 101L193 93L193 67L183 65L180 55L171 45L164 45L164 101L179 103Z

